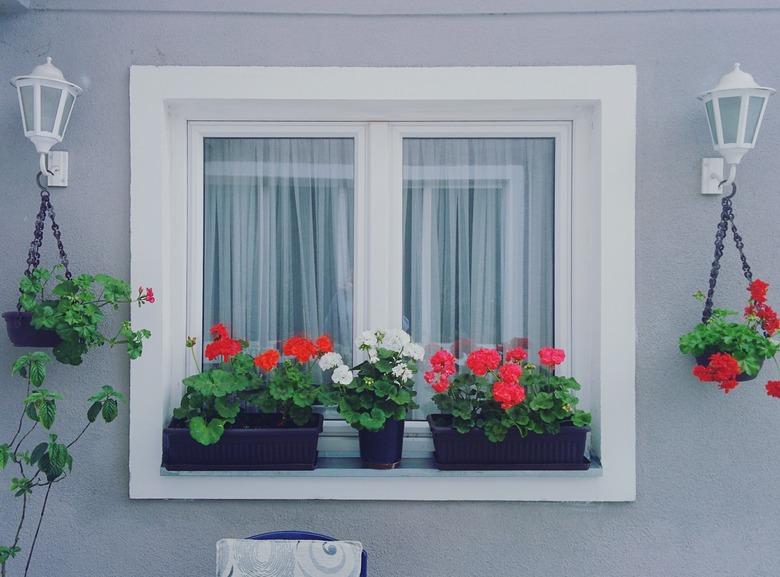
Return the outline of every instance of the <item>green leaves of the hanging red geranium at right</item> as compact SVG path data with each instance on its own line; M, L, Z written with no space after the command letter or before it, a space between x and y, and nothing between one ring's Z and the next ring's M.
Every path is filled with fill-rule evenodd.
M754 327L727 320L736 314L715 309L707 322L699 323L691 332L680 337L680 352L694 357L714 352L729 353L737 359L743 373L756 376L763 362L777 354L780 344Z

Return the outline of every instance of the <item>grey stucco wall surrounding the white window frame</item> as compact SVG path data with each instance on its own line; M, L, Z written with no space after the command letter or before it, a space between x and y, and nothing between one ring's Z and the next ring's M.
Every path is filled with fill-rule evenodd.
M182 3L163 6L176 4ZM280 12L322 7L308 2L285 10L284 3L276 4ZM532 13L516 4L492 4L498 13L485 13L490 2L387 3L392 11L424 14L383 15L381 9L372 13L365 5L336 0L328 4L330 15L272 15L240 9L106 12L69 8L121 3L38 2L54 10L0 15L0 78L26 73L51 54L87 89L63 147L71 153L71 185L55 193L57 214L75 266L126 277L131 64L635 64L637 501L130 501L125 413L115 426L92 432L77 451L73 478L56 487L34 575L210 575L217 539L279 528L359 539L370 551L371 574L383 577L780 573L780 401L764 395L763 381L724 397L694 382L690 361L676 352L678 335L699 312L690 295L705 285L719 213L718 198L697 193L700 158L712 154L694 97L734 60L759 81L780 85L780 3L691 0L664 3L674 9L656 11L660 2L612 1L603 3L610 8L604 13L594 2L580 4L579 12L567 11L566 2L551 2L549 9L531 2ZM360 10L366 13L356 15ZM736 211L754 270L780 288L776 98L758 148L739 171ZM36 170L14 91L6 85L0 89L4 309L14 302L30 240ZM743 293L733 250L727 263L723 302L737 306ZM780 301L780 290L773 294ZM17 353L0 338L0 366ZM127 391L128 363L120 355L94 354L83 370L56 367L50 386L67 393L70 402L62 406L75 414L82 411L76 401L103 383ZM0 437L10 430L21 398L18 383L4 379ZM0 497L0 535L9 533L12 505Z

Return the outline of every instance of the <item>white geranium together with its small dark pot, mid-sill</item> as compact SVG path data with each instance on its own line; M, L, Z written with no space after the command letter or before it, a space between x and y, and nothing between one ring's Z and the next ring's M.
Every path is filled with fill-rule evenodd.
M368 358L354 368L340 357L320 361L333 370L324 400L358 430L363 465L392 469L401 462L406 414L418 407L414 375L425 350L400 329L365 331L356 344Z

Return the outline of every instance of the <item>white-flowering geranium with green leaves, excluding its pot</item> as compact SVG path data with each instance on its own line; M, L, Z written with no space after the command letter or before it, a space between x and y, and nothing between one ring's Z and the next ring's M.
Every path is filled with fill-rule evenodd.
M365 331L356 344L368 358L353 368L336 353L320 359L323 370L333 370L324 402L337 405L357 430L379 431L388 420L403 421L418 408L414 376L425 350L400 329Z

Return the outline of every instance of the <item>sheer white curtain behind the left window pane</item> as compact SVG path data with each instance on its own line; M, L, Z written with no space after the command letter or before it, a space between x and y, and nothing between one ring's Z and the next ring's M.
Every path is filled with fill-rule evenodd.
M353 140L207 138L204 182L204 337L328 333L351 359Z

